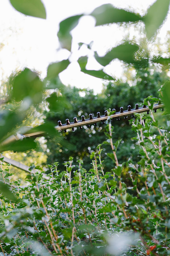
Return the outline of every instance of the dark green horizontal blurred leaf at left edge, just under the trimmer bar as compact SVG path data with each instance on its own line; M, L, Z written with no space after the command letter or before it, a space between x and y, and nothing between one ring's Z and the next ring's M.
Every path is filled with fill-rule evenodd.
M36 148L36 143L31 138L25 138L24 140L17 140L6 145L0 145L0 152L3 151L27 151Z

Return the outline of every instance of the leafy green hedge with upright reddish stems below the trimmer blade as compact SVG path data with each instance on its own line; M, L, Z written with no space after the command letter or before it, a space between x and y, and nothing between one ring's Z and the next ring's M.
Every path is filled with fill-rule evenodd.
M1 158L4 183L12 190L0 197L4 255L169 255L170 143L155 120L154 102L150 99L150 115L136 114L130 120L139 145L138 163L119 163L120 142L112 140L109 118L109 172L104 173L99 144L90 155L90 170L82 160L73 165L70 157L63 172L56 162L48 166L48 180L39 171L27 177L26 187L16 181L14 188L10 167Z

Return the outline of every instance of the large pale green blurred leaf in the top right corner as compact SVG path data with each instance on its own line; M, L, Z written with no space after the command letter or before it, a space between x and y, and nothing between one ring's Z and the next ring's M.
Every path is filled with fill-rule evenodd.
M145 23L148 39L151 39L157 33L157 30L165 20L169 10L169 3L170 0L157 0L147 10L147 14L143 17L143 22Z

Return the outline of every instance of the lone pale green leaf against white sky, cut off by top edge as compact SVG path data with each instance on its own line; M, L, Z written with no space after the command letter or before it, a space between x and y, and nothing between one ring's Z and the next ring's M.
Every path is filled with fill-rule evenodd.
M40 0L10 0L12 6L19 12L46 19L46 10Z

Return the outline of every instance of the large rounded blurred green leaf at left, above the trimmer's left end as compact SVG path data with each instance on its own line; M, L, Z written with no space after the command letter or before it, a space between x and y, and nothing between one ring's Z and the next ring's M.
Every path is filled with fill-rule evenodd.
M28 68L25 68L13 80L12 98L21 101L27 97L30 104L39 103L42 99L43 82L38 75ZM28 101L29 101L28 100Z

